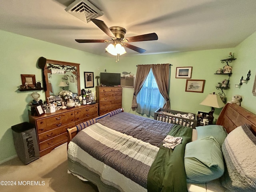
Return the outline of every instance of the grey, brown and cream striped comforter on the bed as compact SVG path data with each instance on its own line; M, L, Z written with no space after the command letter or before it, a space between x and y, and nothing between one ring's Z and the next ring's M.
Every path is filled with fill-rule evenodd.
M150 166L172 126L126 112L102 118L71 140L68 171L90 180L79 170L86 167L120 191L146 191ZM113 175L117 178L113 179ZM129 186L122 177L128 179Z

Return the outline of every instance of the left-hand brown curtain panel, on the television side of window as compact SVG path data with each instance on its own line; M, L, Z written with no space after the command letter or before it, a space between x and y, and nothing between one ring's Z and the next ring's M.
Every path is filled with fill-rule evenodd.
M147 76L150 71L151 65L138 65L134 84L134 93L132 99L132 110L135 110L138 107L136 96L140 92Z

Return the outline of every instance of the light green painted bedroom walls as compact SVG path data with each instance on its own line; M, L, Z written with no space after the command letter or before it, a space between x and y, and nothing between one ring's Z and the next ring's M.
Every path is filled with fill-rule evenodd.
M94 72L94 76L97 76L106 68L107 72L122 73L126 71L136 75L136 65L138 64L170 63L173 65L170 77L171 109L196 113L197 111L210 111L210 107L202 106L199 103L207 94L218 93L215 86L226 76L218 76L214 73L218 68L224 66L220 60L226 58L228 52L234 52L237 59L230 64L233 67L233 74L230 77L230 89L226 90L225 94L228 100L234 94L242 95L242 106L256 114L256 96L252 95L255 78L256 33L246 38L235 48L120 56L118 63L115 62L115 57L98 56L1 30L0 41L0 63L2 68L0 80L2 82L2 95L5 95L0 100L0 163L16 156L11 126L28 121L26 106L32 101L30 96L32 92L17 91L17 86L21 84L20 74L35 74L36 80L42 80L42 70L36 65L38 58L41 56L52 60L80 63L81 88L84 88L83 72ZM186 79L175 78L176 67L180 66L193 67L192 79L206 80L203 93L185 92ZM241 76L246 77L248 70L251 70L251 80L247 84L243 84L241 88L235 88L234 84L239 84ZM94 85L96 85L96 80L94 80ZM38 93L42 100L45 100L44 92L39 91ZM130 110L132 95L132 88L123 88L122 106L126 112L135 113ZM215 110L215 118L218 117L220 110Z

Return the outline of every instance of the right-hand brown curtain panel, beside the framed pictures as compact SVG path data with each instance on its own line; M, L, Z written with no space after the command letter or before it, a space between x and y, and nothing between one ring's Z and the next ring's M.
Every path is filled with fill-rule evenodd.
M169 77L170 77L170 64L156 64L152 66L152 72L155 76L158 89L164 99L166 100L163 108L170 109L169 100Z

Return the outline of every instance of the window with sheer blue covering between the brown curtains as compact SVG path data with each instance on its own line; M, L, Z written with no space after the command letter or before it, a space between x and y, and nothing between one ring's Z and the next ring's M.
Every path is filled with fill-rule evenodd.
M163 107L164 102L164 97L160 94L152 69L150 69L145 83L137 95L138 108L136 112L154 116L154 112Z

